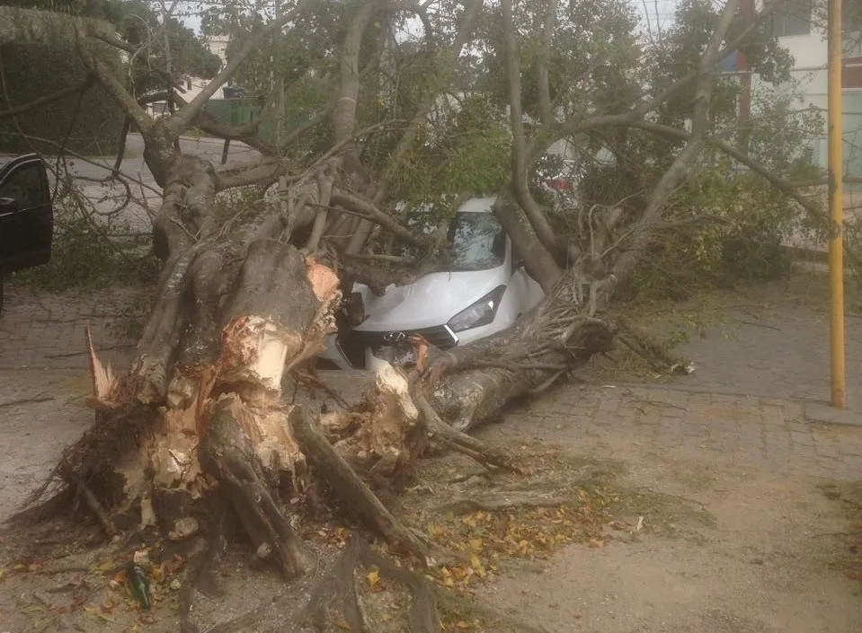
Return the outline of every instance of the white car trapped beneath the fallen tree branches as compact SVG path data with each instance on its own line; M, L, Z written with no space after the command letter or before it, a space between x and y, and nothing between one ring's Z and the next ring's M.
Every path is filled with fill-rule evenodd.
M382 296L363 284L353 286L362 296L365 321L330 337L321 356L342 369L410 365L410 334L450 349L505 330L540 302L542 287L514 259L493 215L494 199L473 198L458 208L449 224L452 261L445 271L387 286Z

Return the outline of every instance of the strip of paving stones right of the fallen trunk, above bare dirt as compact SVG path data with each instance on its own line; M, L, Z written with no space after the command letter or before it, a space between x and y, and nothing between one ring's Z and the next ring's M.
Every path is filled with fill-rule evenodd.
M627 446L631 453L686 453L775 473L862 479L862 427L814 423L804 407L799 400L662 386L563 386L513 410L512 424L496 432L545 432L598 453Z

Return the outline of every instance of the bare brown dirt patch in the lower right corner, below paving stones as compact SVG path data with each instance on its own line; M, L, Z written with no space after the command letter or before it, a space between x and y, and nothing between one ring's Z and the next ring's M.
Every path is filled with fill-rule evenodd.
M741 459L693 443L656 450L650 426L584 430L540 419L529 435L625 464L630 509L660 530L599 549L569 547L529 578L488 586L490 602L555 633L862 630L853 567L862 524L849 514L862 498L848 479L802 456L779 465L762 453ZM862 447L862 429L836 435Z

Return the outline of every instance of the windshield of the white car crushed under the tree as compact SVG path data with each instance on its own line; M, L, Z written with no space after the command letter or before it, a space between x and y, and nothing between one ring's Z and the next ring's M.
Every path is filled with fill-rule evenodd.
M493 213L458 213L449 224L451 258L448 270L488 270L502 266L506 240Z

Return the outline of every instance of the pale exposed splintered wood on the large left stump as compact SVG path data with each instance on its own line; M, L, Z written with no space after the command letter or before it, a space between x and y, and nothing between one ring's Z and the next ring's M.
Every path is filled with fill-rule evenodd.
M280 401L281 379L285 371L323 347L325 336L334 331L333 311L341 297L338 277L331 269L309 258L305 271L320 302L306 331L286 327L270 313L242 314L221 331L214 363L174 368L163 405L154 409L159 419L151 426L152 433L118 456L114 466L125 482L121 506L128 509L140 499L142 526L167 525L174 537L197 530L182 511L163 516L164 501L159 497L181 491L194 500L213 488L216 480L205 474L199 448L219 404L231 412L236 432L247 438L248 455L256 457L275 480L292 481L293 493L303 488L306 460L291 435L293 408ZM132 405L131 391L123 397L121 380L96 354L89 324L86 349L93 380L88 403L107 415Z

